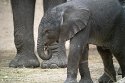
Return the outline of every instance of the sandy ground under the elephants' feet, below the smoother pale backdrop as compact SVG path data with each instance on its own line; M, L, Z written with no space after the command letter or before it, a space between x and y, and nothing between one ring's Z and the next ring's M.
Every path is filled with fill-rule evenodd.
M15 52L1 51L0 56L0 83L63 83L66 79L66 68L64 69L28 69L9 68L8 64L15 56ZM118 70L117 61L114 66ZM89 68L94 83L103 74L103 64L96 50L89 52ZM117 75L119 80L121 77ZM80 76L78 75L78 80Z

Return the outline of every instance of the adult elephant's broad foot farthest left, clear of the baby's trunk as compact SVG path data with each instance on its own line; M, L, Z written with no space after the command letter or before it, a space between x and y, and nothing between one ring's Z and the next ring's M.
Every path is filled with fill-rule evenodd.
M36 68L40 63L34 53L17 54L15 58L9 63L9 67L13 68Z

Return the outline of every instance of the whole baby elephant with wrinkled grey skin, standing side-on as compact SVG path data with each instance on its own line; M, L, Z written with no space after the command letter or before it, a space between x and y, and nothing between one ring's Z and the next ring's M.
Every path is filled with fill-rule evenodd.
M117 0L72 0L58 5L46 12L41 20L38 37L44 42L38 42L38 50L45 47L49 50L52 43L70 39L65 83L77 83L78 68L80 83L91 83L87 52L88 44L94 44L102 57L105 71L99 83L112 83L116 81L112 54L120 64L122 77L125 76L124 13Z

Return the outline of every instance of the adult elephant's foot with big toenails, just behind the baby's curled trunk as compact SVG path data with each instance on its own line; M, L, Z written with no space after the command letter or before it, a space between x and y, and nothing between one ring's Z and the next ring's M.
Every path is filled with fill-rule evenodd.
M52 56L49 60L44 60L41 64L41 68L54 69L54 68L66 68L67 67L67 57L65 56Z

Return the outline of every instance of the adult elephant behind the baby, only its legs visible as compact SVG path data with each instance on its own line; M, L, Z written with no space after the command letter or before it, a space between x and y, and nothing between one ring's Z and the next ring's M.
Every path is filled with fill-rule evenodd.
M40 63L34 53L34 11L36 0L11 0L14 19L14 42L17 49L15 58L9 67L39 67ZM43 0L44 12L66 0ZM50 60L43 61L43 68L66 67L67 57L64 43L56 43L56 52L51 53ZM60 53L61 51L61 53Z

